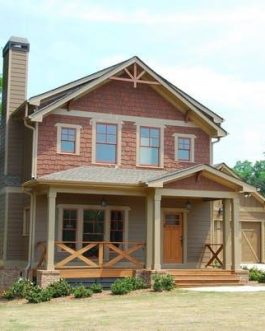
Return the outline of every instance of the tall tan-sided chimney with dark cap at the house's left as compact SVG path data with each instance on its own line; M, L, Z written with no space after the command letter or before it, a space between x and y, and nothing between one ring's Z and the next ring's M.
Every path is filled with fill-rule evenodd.
M10 118L27 95L29 42L11 37L3 49L3 91L0 121L0 186L3 176L20 176L22 151L21 123ZM1 181L2 177L2 181ZM11 180L12 182L12 180ZM5 185L5 184L4 184ZM6 183L6 185L10 185Z

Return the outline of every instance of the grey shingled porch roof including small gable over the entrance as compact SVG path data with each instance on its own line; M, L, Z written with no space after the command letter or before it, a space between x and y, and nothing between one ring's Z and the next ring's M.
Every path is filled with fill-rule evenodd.
M55 172L24 183L25 187L38 184L77 184L77 185L122 185L164 187L165 184L178 181L189 176L202 174L236 191L256 193L256 188L242 180L227 175L214 167L205 164L192 165L177 170L125 169L102 166L83 166Z

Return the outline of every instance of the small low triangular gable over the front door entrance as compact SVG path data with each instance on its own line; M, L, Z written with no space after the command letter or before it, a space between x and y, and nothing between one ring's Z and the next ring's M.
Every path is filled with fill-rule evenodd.
M208 165L198 165L176 171L150 181L148 186L185 190L256 192L255 187Z

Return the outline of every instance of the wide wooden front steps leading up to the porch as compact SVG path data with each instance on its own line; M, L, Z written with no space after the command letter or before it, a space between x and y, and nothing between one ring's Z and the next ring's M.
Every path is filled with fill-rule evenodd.
M167 269L177 287L237 286L247 284L247 277L220 269Z

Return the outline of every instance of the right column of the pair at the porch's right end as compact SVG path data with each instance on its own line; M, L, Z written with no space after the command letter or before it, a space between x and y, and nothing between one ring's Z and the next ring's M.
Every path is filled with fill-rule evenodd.
M240 269L239 198L232 199L232 269Z

